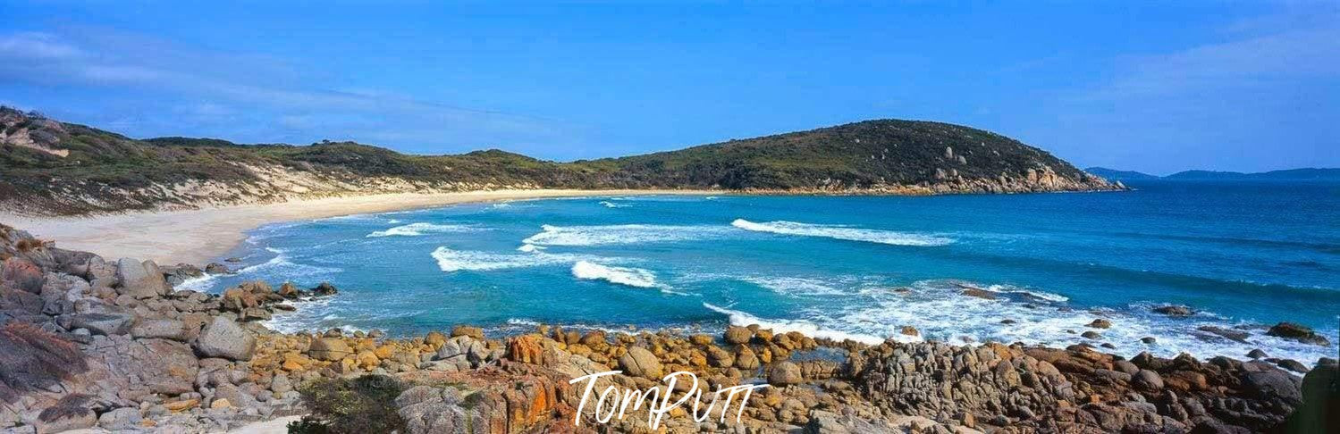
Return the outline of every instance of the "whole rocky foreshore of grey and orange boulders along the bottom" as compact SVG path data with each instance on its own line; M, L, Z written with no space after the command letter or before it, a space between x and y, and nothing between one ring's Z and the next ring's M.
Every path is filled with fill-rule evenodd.
M364 375L405 384L387 403L405 433L1248 433L1325 430L1325 415L1340 414L1333 359L1300 378L1229 358L867 346L757 326L712 335L557 326L512 336L469 326L406 339L279 334L263 321L293 309L289 301L338 296L335 288L174 291L170 281L202 271L109 261L3 225L0 260L3 433L225 431L310 414L304 384ZM622 374L600 376L596 392L665 390L662 376L677 371L708 390L770 387L744 401L738 422L736 407L702 422L677 407L653 430L647 407L604 423L590 402L579 413L584 386L570 380L611 370ZM690 391L677 386L674 401Z

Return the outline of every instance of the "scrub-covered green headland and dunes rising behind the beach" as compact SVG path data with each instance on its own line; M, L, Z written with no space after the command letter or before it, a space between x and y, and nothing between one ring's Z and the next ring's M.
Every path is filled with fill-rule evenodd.
M0 208L29 214L537 188L824 194L1122 189L994 133L915 121L560 163L500 150L406 155L352 142L138 141L0 107Z

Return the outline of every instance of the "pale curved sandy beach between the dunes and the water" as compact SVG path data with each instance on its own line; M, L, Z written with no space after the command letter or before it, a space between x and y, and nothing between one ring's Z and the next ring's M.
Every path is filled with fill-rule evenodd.
M722 194L709 190L494 190L395 193L88 217L24 217L0 213L0 222L31 232L56 246L103 257L135 257L159 264L204 265L237 246L261 225L311 218L421 209L453 204L545 197L626 194Z

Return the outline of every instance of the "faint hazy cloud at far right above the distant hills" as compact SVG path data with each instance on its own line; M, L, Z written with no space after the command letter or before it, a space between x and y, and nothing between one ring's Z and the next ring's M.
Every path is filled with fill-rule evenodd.
M1104 79L1048 107L1047 141L1083 149L1084 163L1150 171L1335 165L1324 133L1333 121L1323 118L1340 111L1340 15L1316 15L1233 23L1217 42L1116 58Z

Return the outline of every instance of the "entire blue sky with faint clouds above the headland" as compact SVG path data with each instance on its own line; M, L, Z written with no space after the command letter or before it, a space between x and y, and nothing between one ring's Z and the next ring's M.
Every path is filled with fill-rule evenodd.
M16 3L0 103L130 137L548 159L872 118L1080 166L1340 166L1340 3Z

